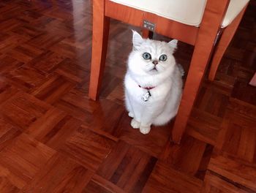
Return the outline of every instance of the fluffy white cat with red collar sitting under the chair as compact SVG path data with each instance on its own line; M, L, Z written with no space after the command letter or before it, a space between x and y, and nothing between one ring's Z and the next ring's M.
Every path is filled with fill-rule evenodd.
M132 42L124 78L125 103L131 126L148 134L151 124L167 124L178 111L183 84L182 67L173 57L178 41L143 39L133 31Z

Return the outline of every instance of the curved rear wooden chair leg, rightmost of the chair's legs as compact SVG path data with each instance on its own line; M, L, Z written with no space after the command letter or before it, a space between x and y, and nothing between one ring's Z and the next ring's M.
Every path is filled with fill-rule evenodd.
M216 47L214 56L211 61L211 68L208 75L208 79L213 81L216 75L217 69L219 67L219 63L222 60L222 57L227 50L227 46L230 44L231 40L233 39L234 34L236 33L236 29L239 26L241 18L244 15L246 7L236 16L235 20L230 23L229 26L222 32L222 36L219 39L219 43Z

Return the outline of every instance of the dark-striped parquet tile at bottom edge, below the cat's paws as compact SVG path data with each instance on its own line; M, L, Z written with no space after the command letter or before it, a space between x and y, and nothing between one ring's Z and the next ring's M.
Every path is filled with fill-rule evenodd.
M141 192L157 158L119 141L97 170L97 175L124 192Z

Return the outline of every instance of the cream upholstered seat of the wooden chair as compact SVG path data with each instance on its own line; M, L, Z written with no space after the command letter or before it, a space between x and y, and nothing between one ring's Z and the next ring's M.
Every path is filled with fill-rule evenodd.
M189 26L200 26L206 0L110 0L138 10L151 12L163 18L176 20ZM230 0L222 28L228 26L249 0Z

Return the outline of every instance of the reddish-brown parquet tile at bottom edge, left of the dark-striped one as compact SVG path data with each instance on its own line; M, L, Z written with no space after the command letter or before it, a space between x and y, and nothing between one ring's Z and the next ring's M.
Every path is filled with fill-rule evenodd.
M67 156L54 154L23 192L81 192L92 172Z

